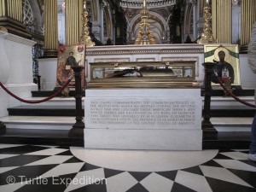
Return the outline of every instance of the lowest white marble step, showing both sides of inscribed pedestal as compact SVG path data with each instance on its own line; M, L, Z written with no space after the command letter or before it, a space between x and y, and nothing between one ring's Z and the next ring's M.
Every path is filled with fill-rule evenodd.
M217 131L250 131L253 118L211 118ZM53 116L6 116L0 121L7 128L70 130L75 117Z

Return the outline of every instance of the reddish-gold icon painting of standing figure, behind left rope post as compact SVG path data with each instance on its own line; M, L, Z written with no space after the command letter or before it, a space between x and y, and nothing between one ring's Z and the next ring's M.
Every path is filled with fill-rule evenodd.
M85 65L85 45L61 45L58 49L58 61L57 61L57 75L56 75L56 87L61 87L62 84L67 82L67 79L73 75L73 66ZM84 68L85 70L85 68ZM85 87L84 71L82 73L82 88ZM74 87L74 78L68 85L68 87Z

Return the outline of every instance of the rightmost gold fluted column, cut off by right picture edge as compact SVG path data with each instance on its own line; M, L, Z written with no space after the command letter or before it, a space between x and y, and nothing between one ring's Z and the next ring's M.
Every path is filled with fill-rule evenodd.
M241 52L247 52L251 38L251 29L256 21L256 1L241 1Z

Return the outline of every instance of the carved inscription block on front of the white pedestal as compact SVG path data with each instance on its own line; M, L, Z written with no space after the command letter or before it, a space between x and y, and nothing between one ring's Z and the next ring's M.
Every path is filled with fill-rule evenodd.
M85 128L201 129L200 98L85 98Z

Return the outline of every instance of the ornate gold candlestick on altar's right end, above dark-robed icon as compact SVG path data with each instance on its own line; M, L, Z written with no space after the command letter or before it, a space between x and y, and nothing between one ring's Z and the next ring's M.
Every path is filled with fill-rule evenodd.
M198 39L199 44L215 44L217 43L212 35L212 8L207 4L204 8L205 24L201 34L201 38Z

